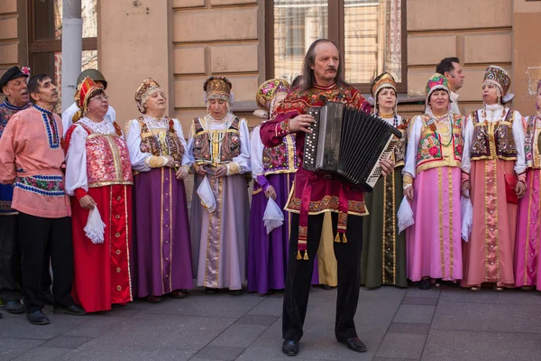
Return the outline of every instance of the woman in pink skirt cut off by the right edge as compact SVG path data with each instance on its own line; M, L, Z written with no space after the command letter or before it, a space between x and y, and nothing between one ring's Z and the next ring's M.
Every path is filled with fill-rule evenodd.
M541 240L541 152L537 147L541 134L541 80L537 83L536 115L525 119L526 194L518 203L517 243L515 246L515 286L541 291L538 272Z

